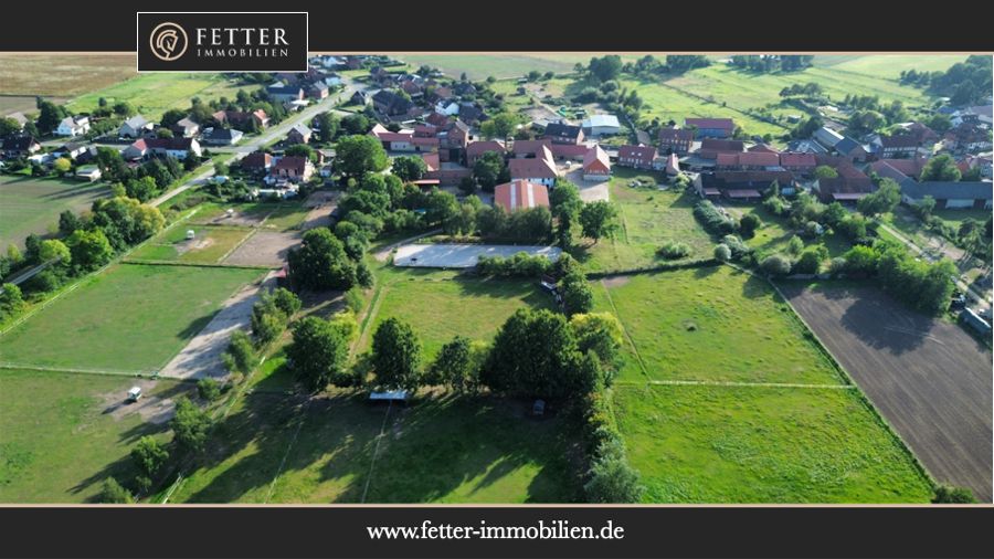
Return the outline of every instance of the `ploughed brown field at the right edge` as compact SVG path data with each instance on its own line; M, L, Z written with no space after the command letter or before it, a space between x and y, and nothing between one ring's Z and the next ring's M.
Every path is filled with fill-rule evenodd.
M991 503L991 351L876 287L781 288L932 476Z

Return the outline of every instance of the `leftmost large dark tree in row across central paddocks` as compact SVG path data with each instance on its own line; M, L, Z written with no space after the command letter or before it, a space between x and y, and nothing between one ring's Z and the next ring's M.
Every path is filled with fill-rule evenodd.
M353 320L355 321L355 320ZM348 386L350 328L343 320L307 316L294 324L286 355L297 379L311 392L328 384Z

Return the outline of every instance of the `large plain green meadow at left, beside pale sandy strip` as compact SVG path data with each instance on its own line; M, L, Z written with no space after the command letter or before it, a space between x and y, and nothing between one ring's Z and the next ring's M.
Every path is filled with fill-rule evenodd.
M0 338L25 366L137 371L162 367L260 271L121 264L88 278Z

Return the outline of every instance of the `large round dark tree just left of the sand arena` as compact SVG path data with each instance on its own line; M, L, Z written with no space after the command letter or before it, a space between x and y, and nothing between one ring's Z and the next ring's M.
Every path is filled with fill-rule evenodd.
M325 228L304 233L298 249L287 255L290 280L308 289L348 289L356 284L356 264L341 241Z

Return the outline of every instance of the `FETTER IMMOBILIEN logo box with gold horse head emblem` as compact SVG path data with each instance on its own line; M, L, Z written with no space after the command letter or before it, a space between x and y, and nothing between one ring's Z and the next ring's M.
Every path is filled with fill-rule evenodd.
M138 12L139 72L306 72L307 12Z

